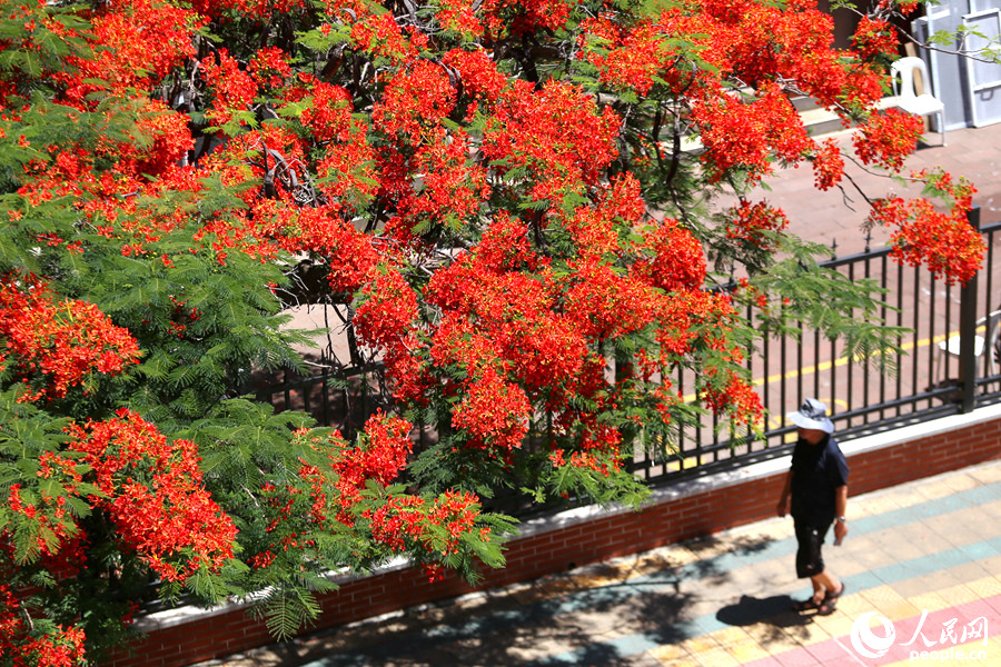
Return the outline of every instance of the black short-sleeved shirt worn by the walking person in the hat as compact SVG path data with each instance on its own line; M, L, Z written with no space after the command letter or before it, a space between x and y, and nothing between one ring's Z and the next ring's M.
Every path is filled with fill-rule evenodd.
M848 484L848 462L831 436L816 445L796 442L792 464L792 516L812 526L830 526L836 512L834 489Z

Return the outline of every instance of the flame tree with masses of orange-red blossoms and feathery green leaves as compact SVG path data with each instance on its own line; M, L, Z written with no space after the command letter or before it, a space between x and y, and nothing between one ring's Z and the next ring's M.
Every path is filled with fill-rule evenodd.
M99 656L151 597L267 590L288 636L330 571L475 579L503 566L512 521L482 499L504 488L637 502L636 442L761 418L721 267L770 327L886 349L851 318L872 287L755 187L901 169L920 121L875 102L914 9L881 0L835 51L813 0L3 2L0 665ZM859 123L854 156L790 93ZM871 222L968 279L972 187L913 178L944 208L876 199ZM344 317L335 370L383 389L351 439L244 396L301 366L280 311L303 302Z

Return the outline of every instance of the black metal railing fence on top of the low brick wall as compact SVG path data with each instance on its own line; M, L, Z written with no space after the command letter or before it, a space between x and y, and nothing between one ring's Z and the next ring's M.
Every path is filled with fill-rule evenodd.
M979 209L970 221L979 227ZM779 456L795 439L795 428L784 415L806 397L827 404L841 441L1001 400L1001 317L995 312L1001 309L1001 253L995 242L1001 222L981 232L988 247L984 267L963 288L948 286L925 269L900 266L889 248L824 262L850 280L871 279L885 290L881 320L910 330L896 341L903 352L893 359L895 374L846 358L841 341L819 331L804 328L797 339L767 338L746 360L766 411L763 437L731 439L715 424L692 428L682 434L675 454L637 451L632 469L655 484ZM750 310L747 317L753 323ZM321 425L350 436L377 406L360 376L336 386L346 375L350 372L287 374L284 381L262 387L258 397L279 409L304 409ZM694 391L694 372L685 370L672 378L683 395Z

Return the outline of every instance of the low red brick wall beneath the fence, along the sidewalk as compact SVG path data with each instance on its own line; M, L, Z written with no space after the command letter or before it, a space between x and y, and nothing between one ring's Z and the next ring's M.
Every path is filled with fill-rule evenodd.
M888 438L890 435L888 435ZM852 495L873 491L1001 457L1001 419L967 426L900 445L849 455ZM602 516L508 544L507 567L489 574L483 588L506 586L574 566L634 554L717 532L773 516L784 476L745 482L661 502L640 512ZM455 578L432 584L409 568L349 580L323 598L315 629L455 597L472 589ZM153 631L112 667L179 667L268 644L264 624L235 609Z

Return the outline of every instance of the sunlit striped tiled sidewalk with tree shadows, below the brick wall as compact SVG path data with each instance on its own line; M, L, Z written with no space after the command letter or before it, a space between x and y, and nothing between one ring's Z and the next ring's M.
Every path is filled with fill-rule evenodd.
M776 518L222 663L1001 665L1001 461L852 498L849 526L825 547L848 587L829 617L789 610L809 585L792 571L792 521Z

